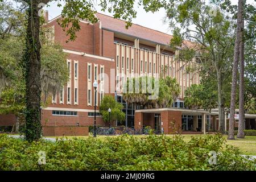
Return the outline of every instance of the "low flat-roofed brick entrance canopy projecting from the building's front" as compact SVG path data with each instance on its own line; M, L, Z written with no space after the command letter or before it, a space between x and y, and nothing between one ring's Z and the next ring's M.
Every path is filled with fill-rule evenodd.
M189 129L193 131L196 131L201 127L201 132L204 134L206 133L207 121L208 126L213 126L215 130L219 125L217 121L218 110L216 109L212 110L212 112L203 109L143 109L136 110L134 118L135 128L140 129L143 126L151 126L155 129L162 129L165 134L172 134L175 131L180 131L181 133L184 122L186 122L187 129L188 125ZM255 121L256 114L245 114L245 118L246 120L252 119ZM225 114L225 130L227 130L227 119L227 115Z

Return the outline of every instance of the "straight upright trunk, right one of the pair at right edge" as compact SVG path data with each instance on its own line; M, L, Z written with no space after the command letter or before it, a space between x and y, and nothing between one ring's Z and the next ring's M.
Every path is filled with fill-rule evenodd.
M244 20L242 21L242 40L240 43L240 87L239 87L239 123L237 138L245 138L245 60L244 60L244 47L243 42L243 28L245 26Z

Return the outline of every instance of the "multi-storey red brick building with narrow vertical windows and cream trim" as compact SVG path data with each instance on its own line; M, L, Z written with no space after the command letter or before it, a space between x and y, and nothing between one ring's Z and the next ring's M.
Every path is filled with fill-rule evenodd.
M69 53L67 65L69 82L53 96L52 104L42 110L42 126L92 126L94 121L94 98L96 97L97 125L105 126L98 106L105 94L112 94L124 106L127 127L141 128L151 126L172 133L170 121L176 121L177 130L199 131L217 130L217 112L188 110L184 107L184 92L192 84L199 84L197 72L186 72L188 67L198 68L196 59L184 63L176 61L174 51L169 45L171 35L151 30L138 24L125 28L123 20L97 13L98 23L80 20L81 30L75 42L68 40L65 32L55 19L47 21L52 30L52 41L60 43L63 51ZM48 18L46 18L48 20ZM186 46L192 43L184 41ZM127 105L122 99L122 83L129 77L158 77L163 68L164 74L175 77L180 85L179 99L172 108L140 110ZM97 94L93 82L97 80ZM251 117L254 119L255 117ZM1 121L1 116L0 116ZM253 123L253 122L251 122ZM116 123L119 125L119 123Z

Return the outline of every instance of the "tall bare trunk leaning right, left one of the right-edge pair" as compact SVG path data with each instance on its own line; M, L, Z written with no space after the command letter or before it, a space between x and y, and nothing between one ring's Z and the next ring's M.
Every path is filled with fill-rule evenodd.
M243 16L243 0L238 1L238 15L237 15L237 36L236 44L234 48L234 61L233 61L233 75L232 75L232 88L230 98L230 118L229 118L229 136L228 139L234 139L234 115L236 112L236 91L237 91L237 71L238 71L238 60L241 43L241 32L242 32L242 16Z

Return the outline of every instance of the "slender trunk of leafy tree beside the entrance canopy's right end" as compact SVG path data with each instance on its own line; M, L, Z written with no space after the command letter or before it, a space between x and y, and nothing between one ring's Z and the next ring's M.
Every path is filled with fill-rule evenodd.
M222 77L221 72L217 70L217 81L218 81L218 122L219 128L218 131L220 133L225 133L225 106L224 106L224 98L222 94Z

